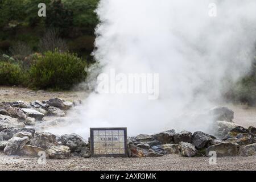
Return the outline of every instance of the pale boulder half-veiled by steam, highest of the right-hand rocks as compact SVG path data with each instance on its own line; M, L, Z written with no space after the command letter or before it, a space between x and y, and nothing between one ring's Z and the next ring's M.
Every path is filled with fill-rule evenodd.
M228 109L228 107L214 107L210 110L210 115L213 116L214 121L232 122L234 119L234 111Z

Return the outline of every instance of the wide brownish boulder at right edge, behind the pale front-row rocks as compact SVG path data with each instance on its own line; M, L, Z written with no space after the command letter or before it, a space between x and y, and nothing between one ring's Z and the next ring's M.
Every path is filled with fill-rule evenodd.
M251 133L237 133L230 131L224 138L226 142L237 143L241 146L254 143L254 136Z

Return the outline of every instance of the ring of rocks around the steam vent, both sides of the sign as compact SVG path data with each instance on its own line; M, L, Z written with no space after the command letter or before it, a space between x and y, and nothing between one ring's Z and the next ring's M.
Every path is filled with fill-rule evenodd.
M38 156L46 152L49 159L67 159L69 156L90 157L90 145L77 134L54 135L38 132L33 127L63 117L68 109L81 102L67 102L60 98L31 103L16 101L0 103L0 150L7 155ZM232 122L234 112L226 107L209 111L214 118L213 135L196 131L167 130L153 135L141 134L128 137L130 157L159 157L177 154L185 157L208 156L215 151L217 156L251 156L256 154L256 128L245 129ZM61 122L55 119L55 122Z

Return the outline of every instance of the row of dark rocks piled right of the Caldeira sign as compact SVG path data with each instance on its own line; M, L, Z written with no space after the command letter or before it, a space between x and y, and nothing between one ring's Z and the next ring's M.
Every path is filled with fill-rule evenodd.
M248 129L233 123L234 112L226 107L215 107L209 111L214 120L214 137L196 131L168 130L154 135L130 137L129 155L134 157L162 156L179 154L181 156L209 156L215 151L217 156L256 155L256 129Z

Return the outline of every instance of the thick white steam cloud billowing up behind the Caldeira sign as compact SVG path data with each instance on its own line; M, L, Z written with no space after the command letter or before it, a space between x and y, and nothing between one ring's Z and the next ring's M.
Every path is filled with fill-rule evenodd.
M215 3L216 17L209 16ZM89 127L127 127L129 135L167 129L208 131L209 121L177 119L207 110L251 66L255 0L102 0L94 56L117 73L159 73L159 98L92 93L53 133L89 136Z

